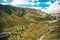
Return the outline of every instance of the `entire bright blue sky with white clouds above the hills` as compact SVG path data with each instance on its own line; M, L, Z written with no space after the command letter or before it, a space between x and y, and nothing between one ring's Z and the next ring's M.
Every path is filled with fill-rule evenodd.
M0 0L0 4L33 8L46 13L60 13L60 0Z

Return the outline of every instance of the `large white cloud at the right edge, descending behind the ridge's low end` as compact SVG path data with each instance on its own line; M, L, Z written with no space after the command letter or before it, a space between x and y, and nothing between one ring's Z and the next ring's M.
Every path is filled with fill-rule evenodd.
M60 13L60 1L56 1L53 4L51 4L46 10L44 10L47 13Z

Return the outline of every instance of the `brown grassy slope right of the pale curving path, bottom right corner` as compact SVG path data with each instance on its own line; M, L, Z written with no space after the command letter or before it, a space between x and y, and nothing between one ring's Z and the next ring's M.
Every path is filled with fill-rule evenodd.
M52 32L44 40L60 40L60 20L51 23L51 25L58 27L52 27Z

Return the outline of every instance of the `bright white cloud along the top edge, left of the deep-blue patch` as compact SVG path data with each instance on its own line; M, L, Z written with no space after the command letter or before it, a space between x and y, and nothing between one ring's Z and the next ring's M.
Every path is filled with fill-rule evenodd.
M37 2L35 2L37 1ZM28 0L13 0L10 5L39 5L40 2L38 2L38 0L31 0L31 2L29 2Z

